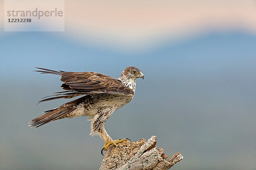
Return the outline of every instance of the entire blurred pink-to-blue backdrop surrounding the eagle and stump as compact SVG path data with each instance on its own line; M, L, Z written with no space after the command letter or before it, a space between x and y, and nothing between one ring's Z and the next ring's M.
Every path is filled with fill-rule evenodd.
M0 9L3 9L3 0ZM65 1L64 32L4 32L0 10L0 169L99 169L103 141L86 117L29 120L68 99L34 67L119 77L143 71L134 99L105 127L113 139L157 136L174 170L256 169L256 3Z

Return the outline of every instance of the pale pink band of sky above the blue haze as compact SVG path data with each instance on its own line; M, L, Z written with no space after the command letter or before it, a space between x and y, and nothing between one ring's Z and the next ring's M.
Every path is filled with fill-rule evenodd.
M64 12L64 36L121 48L149 47L167 37L178 40L218 30L256 34L253 0L66 0ZM0 23L3 27L2 10Z

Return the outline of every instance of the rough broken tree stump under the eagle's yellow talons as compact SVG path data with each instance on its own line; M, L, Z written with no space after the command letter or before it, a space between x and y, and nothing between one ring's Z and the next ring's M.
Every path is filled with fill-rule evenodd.
M105 152L100 170L168 170L183 159L180 153L175 153L170 159L164 156L162 148L157 148L157 136L131 142L119 143L119 147L111 145Z

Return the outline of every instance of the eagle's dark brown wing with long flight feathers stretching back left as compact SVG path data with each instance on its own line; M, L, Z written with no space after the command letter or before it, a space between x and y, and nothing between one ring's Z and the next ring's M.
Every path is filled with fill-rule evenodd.
M96 72L65 72L54 71L46 68L41 69L42 74L61 75L61 81L64 82L61 87L66 90L58 92L53 97L39 101L47 101L59 98L73 98L80 95L89 94L116 94L116 95L134 95L134 91L123 85L118 79L106 76ZM50 97L50 96L47 96Z

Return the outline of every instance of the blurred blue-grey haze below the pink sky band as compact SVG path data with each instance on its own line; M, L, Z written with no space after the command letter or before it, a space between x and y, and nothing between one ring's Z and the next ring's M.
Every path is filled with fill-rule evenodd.
M98 169L102 139L90 137L86 117L40 128L29 120L68 99L35 105L61 91L56 75L34 67L96 71L119 77L140 68L134 99L106 123L113 139L157 136L166 154L184 159L174 170L256 169L256 37L213 32L159 42L146 51L120 51L58 33L0 34L0 169Z

